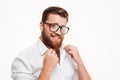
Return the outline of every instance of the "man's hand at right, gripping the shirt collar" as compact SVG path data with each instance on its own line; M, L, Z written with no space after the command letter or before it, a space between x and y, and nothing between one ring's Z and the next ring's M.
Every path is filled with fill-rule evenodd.
M64 49L66 53L68 53L76 63L80 61L80 55L79 55L77 47L69 44L65 46Z

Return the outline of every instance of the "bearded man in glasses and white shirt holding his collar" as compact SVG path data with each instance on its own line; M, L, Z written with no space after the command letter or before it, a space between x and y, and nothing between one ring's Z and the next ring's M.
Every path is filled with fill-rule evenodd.
M36 44L18 55L12 65L13 80L91 80L78 49L62 44L68 13L53 6L45 9Z

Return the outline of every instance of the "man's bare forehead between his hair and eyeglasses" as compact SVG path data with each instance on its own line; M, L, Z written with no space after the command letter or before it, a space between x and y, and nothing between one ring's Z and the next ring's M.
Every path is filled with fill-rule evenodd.
M58 23L59 25L66 25L67 19L56 14L49 14L46 22Z

